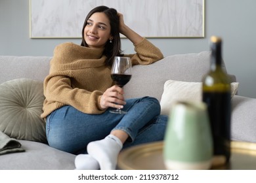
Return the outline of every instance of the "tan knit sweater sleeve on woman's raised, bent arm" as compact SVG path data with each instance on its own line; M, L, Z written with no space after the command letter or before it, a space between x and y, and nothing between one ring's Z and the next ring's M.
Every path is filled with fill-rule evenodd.
M136 54L129 54L133 65L148 65L163 58L161 50L147 39L142 39L139 44L134 44Z

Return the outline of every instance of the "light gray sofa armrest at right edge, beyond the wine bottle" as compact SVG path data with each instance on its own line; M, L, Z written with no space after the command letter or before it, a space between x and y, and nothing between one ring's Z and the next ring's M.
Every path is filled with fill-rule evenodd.
M234 95L231 103L231 139L256 142L256 99Z

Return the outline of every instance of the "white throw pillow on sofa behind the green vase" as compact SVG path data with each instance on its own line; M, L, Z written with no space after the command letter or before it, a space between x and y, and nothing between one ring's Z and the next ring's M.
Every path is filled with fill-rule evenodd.
M231 83L231 97L238 91L238 82ZM169 115L177 101L202 101L202 82L167 80L161 95L161 114Z

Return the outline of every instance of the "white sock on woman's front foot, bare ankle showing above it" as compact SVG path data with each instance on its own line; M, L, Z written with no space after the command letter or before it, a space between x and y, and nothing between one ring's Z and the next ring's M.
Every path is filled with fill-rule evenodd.
M122 142L114 135L108 135L100 141L90 142L87 152L100 164L102 170L115 170L118 154L123 147Z

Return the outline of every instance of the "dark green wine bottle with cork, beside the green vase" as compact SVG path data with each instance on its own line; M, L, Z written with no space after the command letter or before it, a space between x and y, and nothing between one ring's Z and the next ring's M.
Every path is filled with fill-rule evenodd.
M222 40L211 37L211 64L203 77L203 102L207 105L215 158L230 159L230 80L222 67Z

